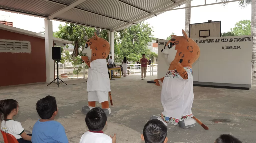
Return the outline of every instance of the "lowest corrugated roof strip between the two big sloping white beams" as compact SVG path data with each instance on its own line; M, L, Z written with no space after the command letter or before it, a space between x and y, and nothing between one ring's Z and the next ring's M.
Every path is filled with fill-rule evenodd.
M67 12L62 13L60 16L56 17L61 20L67 20L71 22L81 23L85 25L101 27L105 29L111 29L125 22L114 20L111 18L103 17L100 15L95 15L86 11L79 9L71 9Z

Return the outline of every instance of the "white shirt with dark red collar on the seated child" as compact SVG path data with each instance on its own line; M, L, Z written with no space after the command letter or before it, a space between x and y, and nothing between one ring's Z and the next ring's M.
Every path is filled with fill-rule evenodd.
M112 138L103 133L92 133L88 131L82 135L80 143L112 143Z

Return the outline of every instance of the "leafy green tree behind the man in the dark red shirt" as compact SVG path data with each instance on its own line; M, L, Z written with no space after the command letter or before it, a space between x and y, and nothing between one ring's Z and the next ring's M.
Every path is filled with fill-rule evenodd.
M150 56L150 50L147 45L148 42L152 41L153 27L150 24L140 22L131 27L125 28L120 31L121 44L116 45L119 48L119 57L115 58L116 62L121 62L124 56L127 57L128 61L137 61L145 54L147 57Z

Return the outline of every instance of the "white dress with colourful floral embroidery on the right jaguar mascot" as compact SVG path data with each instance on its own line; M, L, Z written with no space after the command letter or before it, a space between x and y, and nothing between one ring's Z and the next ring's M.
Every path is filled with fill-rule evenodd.
M188 66L184 69L187 71L188 79L183 79L175 70L168 70L162 85L161 102L164 111L161 117L174 125L193 117L193 72Z

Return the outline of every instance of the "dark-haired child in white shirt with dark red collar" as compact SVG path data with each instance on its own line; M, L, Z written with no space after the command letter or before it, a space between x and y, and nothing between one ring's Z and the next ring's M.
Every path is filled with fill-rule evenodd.
M107 116L101 108L91 109L85 117L85 123L89 131L82 135L80 143L115 143L116 134L109 137L102 132L107 123Z

